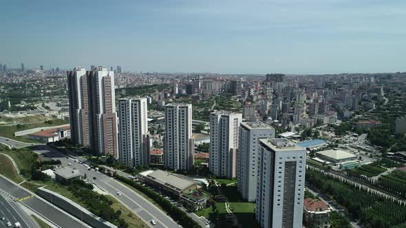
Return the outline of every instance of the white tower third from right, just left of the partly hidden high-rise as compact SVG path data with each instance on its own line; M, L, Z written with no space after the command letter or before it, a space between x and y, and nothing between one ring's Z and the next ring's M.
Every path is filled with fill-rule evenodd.
M234 178L237 172L238 128L242 113L215 111L210 114L209 171Z

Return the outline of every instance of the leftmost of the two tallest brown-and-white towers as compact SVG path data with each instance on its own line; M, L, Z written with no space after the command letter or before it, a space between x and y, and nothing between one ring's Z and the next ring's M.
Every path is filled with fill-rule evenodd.
M85 68L75 67L73 71L67 71L67 93L72 143L89 146L89 100Z

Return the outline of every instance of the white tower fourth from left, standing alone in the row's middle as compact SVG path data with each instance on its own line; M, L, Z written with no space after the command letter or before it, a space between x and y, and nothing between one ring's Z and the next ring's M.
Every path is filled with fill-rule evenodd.
M194 163L192 105L165 106L164 166L170 170L191 170Z

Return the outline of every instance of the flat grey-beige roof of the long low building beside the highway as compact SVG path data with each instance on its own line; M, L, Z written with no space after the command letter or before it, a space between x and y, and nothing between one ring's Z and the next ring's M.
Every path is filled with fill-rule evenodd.
M186 190L188 187L191 187L191 185L197 184L197 181L193 181L186 176L173 174L163 170L148 170L140 174L162 185L167 185L168 187L171 187L177 191Z

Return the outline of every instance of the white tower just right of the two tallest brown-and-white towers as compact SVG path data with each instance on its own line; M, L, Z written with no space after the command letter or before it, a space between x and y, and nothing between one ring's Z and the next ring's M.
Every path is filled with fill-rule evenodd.
M129 167L149 166L147 98L118 100L118 154Z

